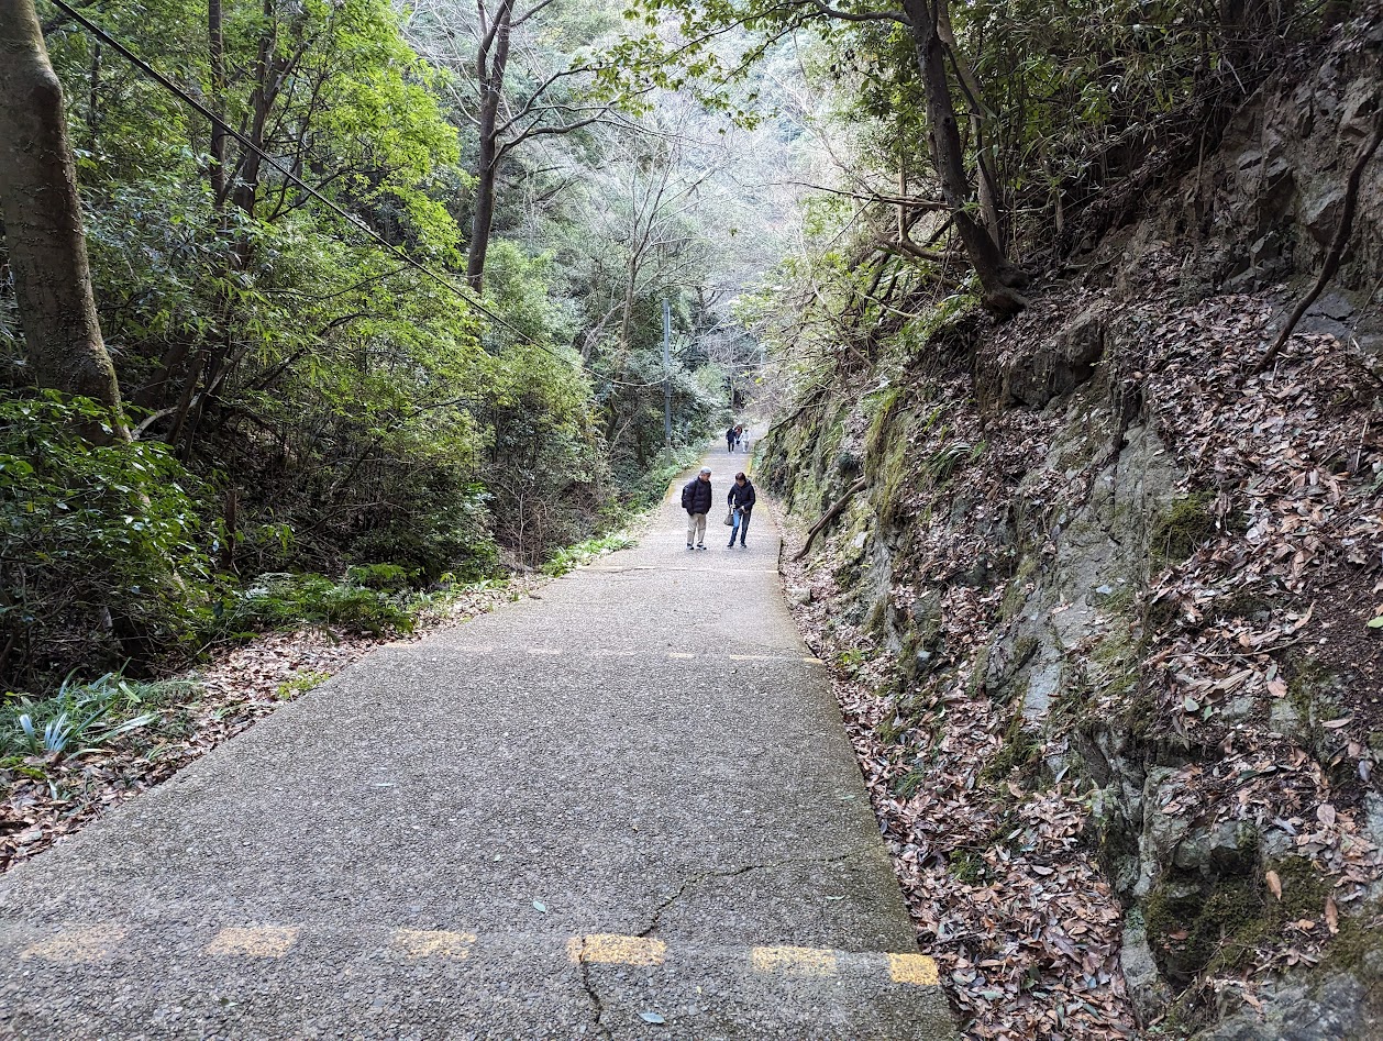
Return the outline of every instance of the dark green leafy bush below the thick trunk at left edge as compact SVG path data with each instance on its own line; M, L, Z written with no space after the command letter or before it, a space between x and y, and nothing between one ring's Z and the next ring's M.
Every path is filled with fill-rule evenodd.
M11 669L147 653L206 607L216 528L205 487L166 445L82 435L108 419L89 400L0 401L0 643Z

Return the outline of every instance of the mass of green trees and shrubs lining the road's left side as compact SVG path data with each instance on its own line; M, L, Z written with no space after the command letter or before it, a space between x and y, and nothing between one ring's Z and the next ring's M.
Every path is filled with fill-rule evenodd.
M109 418L32 393L0 285L0 676L17 687L76 665L152 668L259 628L407 629L422 600L448 596L440 585L607 529L667 480L664 297L678 444L726 408L727 369L693 335L711 323L693 286L714 257L686 203L687 185L707 191L687 180L703 156L669 144L680 127L592 127L563 138L550 171L508 158L484 314L362 231L463 285L474 135L455 100L470 66L419 57L441 48L390 0L221 8L221 83L205 4L87 15L349 217L234 138L219 192L206 119L55 19L97 308L136 440L93 444L83 434ZM555 66L611 22L549 15L523 47ZM636 239L651 243L638 256Z

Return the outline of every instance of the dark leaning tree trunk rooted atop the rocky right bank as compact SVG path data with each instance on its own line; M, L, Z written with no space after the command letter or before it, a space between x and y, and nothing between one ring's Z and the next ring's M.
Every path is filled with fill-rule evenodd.
M928 137L942 198L950 207L952 223L960 232L965 254L979 275L985 307L996 314L1017 314L1028 306L1018 292L1028 283L1028 276L1008 261L989 229L975 220L978 200L965 176L964 149L946 76L946 53L938 32L936 11L927 0L903 0L903 11L910 21L917 65L922 73Z

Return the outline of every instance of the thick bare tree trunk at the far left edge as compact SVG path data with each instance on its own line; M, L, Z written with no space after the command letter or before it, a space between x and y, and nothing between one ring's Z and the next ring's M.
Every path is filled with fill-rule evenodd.
M0 0L0 216L35 383L118 412L120 390L91 297L62 88L33 0Z

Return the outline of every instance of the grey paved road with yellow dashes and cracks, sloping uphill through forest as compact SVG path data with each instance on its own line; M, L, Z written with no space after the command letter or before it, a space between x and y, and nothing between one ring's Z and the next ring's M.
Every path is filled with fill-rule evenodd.
M722 516L687 553L669 499L0 878L0 1037L953 1037L772 517Z

